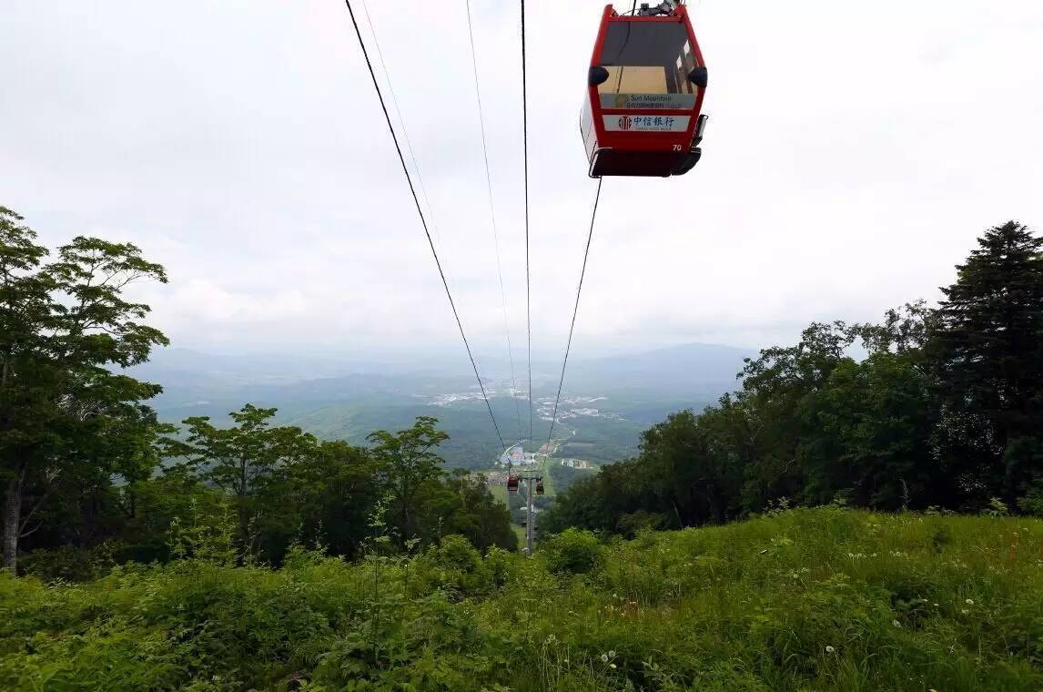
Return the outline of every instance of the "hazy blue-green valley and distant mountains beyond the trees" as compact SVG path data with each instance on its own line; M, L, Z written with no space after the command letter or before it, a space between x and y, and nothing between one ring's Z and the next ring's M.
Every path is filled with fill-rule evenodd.
M623 458L636 451L648 426L672 411L701 409L732 389L743 359L752 355L745 349L689 343L572 358L555 436L560 431L582 444L584 455L595 461ZM517 399L510 396L506 358L480 357L479 362L504 439L528 438L524 361L516 358L514 364ZM435 415L451 435L442 450L448 463L482 468L499 452L500 440L468 367L462 356L445 354L335 358L165 349L134 371L163 385L154 406L165 421L210 415L221 425L229 411L252 403L277 407L281 423L358 444L374 429L399 429L417 415ZM536 440L548 434L560 367L552 358L533 360ZM566 444L561 454L575 452Z

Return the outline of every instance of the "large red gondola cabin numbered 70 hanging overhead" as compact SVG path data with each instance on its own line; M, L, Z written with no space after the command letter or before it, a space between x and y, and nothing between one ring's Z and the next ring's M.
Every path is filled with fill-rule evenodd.
M684 5L606 5L580 117L590 177L681 175L699 161L706 65Z

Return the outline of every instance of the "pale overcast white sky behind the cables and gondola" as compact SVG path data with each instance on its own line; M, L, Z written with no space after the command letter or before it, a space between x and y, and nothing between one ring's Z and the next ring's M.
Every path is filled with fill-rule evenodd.
M369 1L464 327L502 352L464 0ZM989 225L1043 229L1039 0L690 5L710 75L703 159L605 180L579 355L786 342L812 319L937 297ZM603 6L528 3L545 353L564 347L596 186L578 116ZM517 349L518 8L471 11ZM49 245L98 235L166 265L170 284L139 293L176 345L463 357L338 0L5 0L0 205Z

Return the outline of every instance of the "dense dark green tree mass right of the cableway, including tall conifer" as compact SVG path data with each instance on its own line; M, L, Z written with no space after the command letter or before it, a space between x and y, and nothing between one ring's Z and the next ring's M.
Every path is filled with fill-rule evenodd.
M633 535L642 522L723 523L780 498L995 512L994 498L1039 511L1043 239L1011 222L978 242L938 309L816 323L761 351L738 391L650 428L636 458L559 493L543 527Z

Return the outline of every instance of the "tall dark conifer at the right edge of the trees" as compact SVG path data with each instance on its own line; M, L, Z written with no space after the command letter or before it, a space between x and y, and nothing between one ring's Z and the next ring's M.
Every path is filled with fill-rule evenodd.
M1013 500L1043 476L1043 238L989 229L943 288L930 353L966 490Z

